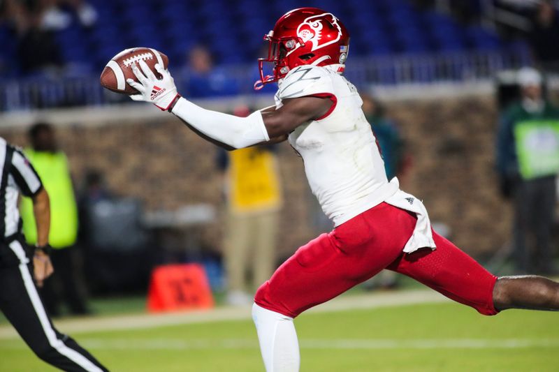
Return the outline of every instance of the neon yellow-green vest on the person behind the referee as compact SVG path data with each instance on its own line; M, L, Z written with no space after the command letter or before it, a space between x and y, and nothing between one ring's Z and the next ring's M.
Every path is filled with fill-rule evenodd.
M78 207L63 152L25 150L25 154L37 171L50 198L49 243L52 248L65 248L75 244L78 237ZM37 241L37 229L31 198L22 198L20 213L23 233L29 244Z

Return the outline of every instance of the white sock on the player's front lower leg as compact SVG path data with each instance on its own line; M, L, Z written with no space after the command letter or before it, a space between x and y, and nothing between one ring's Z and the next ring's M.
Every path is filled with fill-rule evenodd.
M252 319L266 371L299 371L299 343L293 318L254 304Z

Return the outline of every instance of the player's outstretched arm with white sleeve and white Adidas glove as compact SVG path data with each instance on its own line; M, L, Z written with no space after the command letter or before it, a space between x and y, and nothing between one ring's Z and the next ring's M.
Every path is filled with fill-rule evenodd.
M143 61L139 61L140 69L132 66L138 82L127 82L140 91L132 96L136 101L154 103L161 110L173 112L180 117L198 135L226 149L240 149L253 144L281 140L284 135L293 131L307 121L321 117L328 112L331 101L326 98L301 97L283 101L283 106L278 110L260 112L256 111L248 117L235 117L212 110L205 110L177 94L173 77L168 70L157 64L157 72L163 76L161 80ZM153 87L165 89L164 94L151 98Z

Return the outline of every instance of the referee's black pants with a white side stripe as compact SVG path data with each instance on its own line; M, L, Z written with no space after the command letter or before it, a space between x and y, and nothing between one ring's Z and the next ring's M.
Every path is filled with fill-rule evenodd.
M52 325L34 284L30 254L24 247L18 240L0 245L3 258L13 254L0 267L0 310L29 348L48 364L63 371L108 371L73 338Z

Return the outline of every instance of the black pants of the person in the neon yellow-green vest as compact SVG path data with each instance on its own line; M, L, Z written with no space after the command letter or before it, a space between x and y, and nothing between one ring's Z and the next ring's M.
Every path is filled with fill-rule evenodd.
M77 247L53 249L50 255L55 272L41 288L41 297L50 316L60 315L60 303L64 300L75 315L86 314L85 299L80 291L80 280L76 272L78 264ZM58 291L57 289L60 289Z

